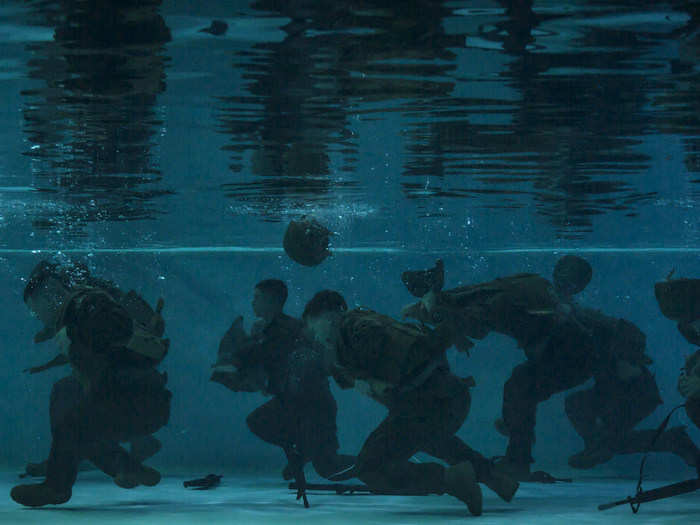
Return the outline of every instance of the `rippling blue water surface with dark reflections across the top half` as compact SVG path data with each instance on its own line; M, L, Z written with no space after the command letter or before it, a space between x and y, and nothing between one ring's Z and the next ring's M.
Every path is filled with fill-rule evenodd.
M6 5L3 247L697 244L697 2L531 4Z

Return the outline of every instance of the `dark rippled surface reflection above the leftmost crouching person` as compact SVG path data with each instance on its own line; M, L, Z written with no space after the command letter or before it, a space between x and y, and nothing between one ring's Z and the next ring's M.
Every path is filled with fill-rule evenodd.
M29 6L33 23L54 28L28 45L24 131L33 184L56 205L34 226L80 235L90 221L152 218L168 193L153 153L162 125L170 31L160 0L63 0Z

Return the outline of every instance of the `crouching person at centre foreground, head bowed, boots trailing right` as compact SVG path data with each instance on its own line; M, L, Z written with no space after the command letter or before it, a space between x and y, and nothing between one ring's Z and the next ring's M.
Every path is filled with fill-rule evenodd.
M356 388L388 409L358 454L356 475L394 494L449 494L482 512L478 482L510 501L518 483L455 434L469 412L473 379L450 371L449 343L427 328L372 310L348 311L343 297L318 292L306 305L305 329L323 349L341 388ZM413 463L422 451L445 461Z

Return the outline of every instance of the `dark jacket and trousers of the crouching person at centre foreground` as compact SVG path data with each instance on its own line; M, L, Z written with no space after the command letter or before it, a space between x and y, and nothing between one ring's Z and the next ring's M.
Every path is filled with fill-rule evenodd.
M365 387L389 410L358 454L357 477L382 492L442 494L445 468L409 461L422 451L450 465L470 461L477 480L488 484L491 463L455 436L469 412L473 380L450 372L444 341L363 309L344 314L340 333L338 384Z

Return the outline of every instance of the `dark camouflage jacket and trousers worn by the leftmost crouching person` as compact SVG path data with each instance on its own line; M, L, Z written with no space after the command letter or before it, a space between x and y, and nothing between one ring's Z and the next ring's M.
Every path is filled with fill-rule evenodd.
M147 436L169 419L166 375L128 350L133 321L108 294L88 290L66 303L56 331L70 339L73 375L51 392L51 451L46 484L69 492L78 463L89 459L105 473L138 467L119 442Z

